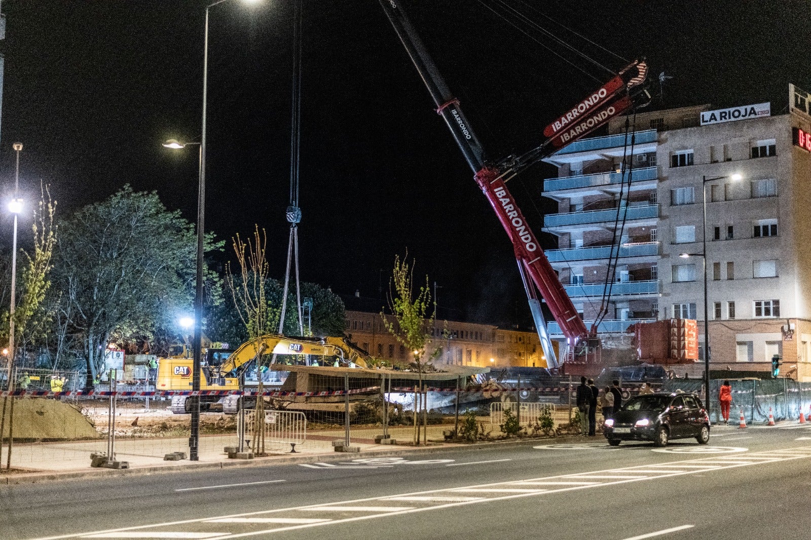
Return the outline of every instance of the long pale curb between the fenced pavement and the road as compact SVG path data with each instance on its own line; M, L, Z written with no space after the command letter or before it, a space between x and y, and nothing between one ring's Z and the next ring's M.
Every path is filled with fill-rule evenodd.
M554 444L555 441L560 439L593 439L592 437L581 437L581 435L562 435L559 437L544 437L544 438L527 438L515 440L497 440L497 441L482 441L474 444L459 444L459 443L440 443L436 446L427 447L394 447L380 450L369 450L367 452L360 452L354 454L356 456L410 456L414 454L425 453L442 453L453 452L466 448L469 450L485 450L498 448L513 448L516 446L524 446L526 444L537 444L539 441L548 441L549 444ZM333 458L330 460L330 458ZM153 465L149 467L139 467L137 469L92 469L92 470L74 470L66 471L64 473L49 472L36 472L36 473L22 473L10 476L0 476L0 485L15 486L20 484L33 484L41 482L58 482L61 480L75 480L79 478L109 478L109 477L124 477L133 475L146 475L146 474L161 474L161 473L174 473L186 472L191 470L210 470L210 469L229 469L232 467L267 467L272 465L298 465L302 463L311 463L323 459L324 461L342 461L345 459L345 454L333 453L320 453L320 454L307 454L306 456L268 456L259 457L253 460L235 460L235 461L216 461L212 463L184 463L183 465ZM0 471L2 474L2 471Z

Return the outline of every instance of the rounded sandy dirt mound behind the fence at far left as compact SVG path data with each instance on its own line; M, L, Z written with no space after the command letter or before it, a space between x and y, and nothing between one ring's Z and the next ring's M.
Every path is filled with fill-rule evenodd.
M10 413L11 400L6 403L3 437L7 437L9 433ZM37 397L15 400L15 440L98 439L99 436L88 418L85 418L74 405Z

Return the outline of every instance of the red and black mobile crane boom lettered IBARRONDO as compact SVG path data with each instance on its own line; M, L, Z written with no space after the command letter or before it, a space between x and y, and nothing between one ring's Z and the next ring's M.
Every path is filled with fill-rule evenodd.
M543 157L550 156L560 148L605 125L611 118L639 106L642 101L650 101L645 84L646 64L633 62L626 66L606 84L549 124L543 131L546 139L538 147L521 156L508 156L495 162L488 161L473 127L461 112L459 101L448 89L398 0L380 0L380 6L383 7L411 62L431 93L436 112L444 118L468 165L473 169L476 183L490 201L501 225L513 242L518 271L521 273L521 280L530 302L530 311L547 358L547 366L558 367L558 363L547 336L539 294L547 302L552 316L560 324L560 329L569 344L567 363L599 362L601 347L596 324L590 329L586 328L586 324L577 314L572 300L549 264L521 209L510 195L506 182Z

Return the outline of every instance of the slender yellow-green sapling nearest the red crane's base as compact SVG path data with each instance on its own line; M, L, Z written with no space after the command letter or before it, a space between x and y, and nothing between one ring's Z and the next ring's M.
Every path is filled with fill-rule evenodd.
M426 348L431 341L429 328L434 325L436 317L436 303L434 310L428 314L431 307L431 288L428 286L428 276L425 276L425 285L420 286L419 292L414 296L414 269L408 263L408 253L400 260L400 255L394 258L392 278L388 285L388 308L392 312L393 321L384 313L380 313L383 324L401 345L414 354L414 366L419 379L419 388L423 388L423 370L425 366L438 357L442 352L436 347L430 353ZM415 405L416 405L416 400ZM414 415L417 407L414 406ZM416 444L419 444L417 435Z

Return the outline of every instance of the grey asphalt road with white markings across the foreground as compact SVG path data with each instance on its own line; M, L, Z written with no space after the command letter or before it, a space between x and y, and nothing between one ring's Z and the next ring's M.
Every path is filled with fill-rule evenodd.
M719 427L707 446L598 437L2 486L0 538L799 540L809 495L811 427Z

